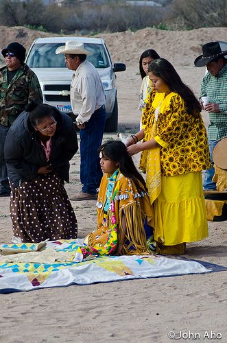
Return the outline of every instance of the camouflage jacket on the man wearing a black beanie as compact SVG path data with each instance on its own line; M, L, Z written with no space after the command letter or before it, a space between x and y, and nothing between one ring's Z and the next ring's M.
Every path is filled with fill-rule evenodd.
M8 126L25 109L32 99L43 102L43 95L34 71L23 64L10 84L7 78L8 67L0 68L0 124Z

